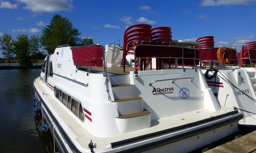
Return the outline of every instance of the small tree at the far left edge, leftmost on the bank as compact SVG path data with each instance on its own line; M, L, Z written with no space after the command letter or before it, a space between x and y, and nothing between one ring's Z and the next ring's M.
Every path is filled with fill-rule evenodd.
M10 59L14 55L14 43L10 34L4 34L0 37L0 50L2 50L2 55L8 60L10 66Z

